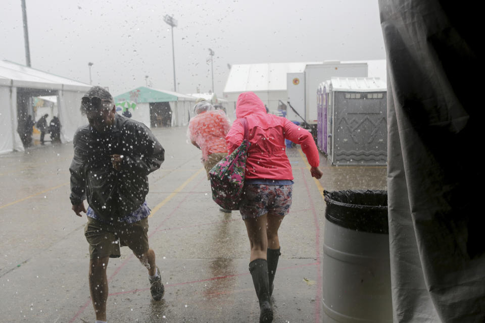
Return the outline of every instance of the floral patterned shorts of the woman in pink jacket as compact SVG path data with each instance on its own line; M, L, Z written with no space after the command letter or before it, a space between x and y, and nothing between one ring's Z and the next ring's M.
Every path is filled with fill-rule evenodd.
M293 185L247 184L239 206L243 220L266 213L284 217L292 206Z

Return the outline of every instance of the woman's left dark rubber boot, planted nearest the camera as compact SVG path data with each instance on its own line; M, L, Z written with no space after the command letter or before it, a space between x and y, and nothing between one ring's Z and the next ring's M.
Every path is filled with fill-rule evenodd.
M259 300L259 323L270 323L273 321L273 309L269 303L268 262L264 259L253 260L249 263L249 271Z

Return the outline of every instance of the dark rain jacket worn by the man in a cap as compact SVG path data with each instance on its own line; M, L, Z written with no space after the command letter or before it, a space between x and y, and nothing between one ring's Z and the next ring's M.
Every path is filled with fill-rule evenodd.
M147 126L116 114L111 131L99 133L89 125L74 135L71 203L87 199L97 216L109 222L136 210L148 193L147 175L160 168L164 149ZM122 170L111 163L123 155Z

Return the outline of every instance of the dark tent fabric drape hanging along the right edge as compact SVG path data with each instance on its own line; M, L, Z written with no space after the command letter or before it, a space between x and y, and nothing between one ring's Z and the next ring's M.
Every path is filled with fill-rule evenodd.
M380 0L396 322L485 321L481 14Z

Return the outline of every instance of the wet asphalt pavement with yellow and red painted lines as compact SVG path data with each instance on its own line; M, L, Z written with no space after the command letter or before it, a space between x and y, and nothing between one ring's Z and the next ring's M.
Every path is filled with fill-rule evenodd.
M249 240L239 211L212 201L200 150L185 127L152 129L165 148L149 176L149 241L165 297L150 296L147 270L127 247L108 265L108 322L258 322L248 270ZM0 322L94 322L87 281L85 215L69 201L72 143L0 155ZM322 191L385 189L386 169L332 167L321 156L314 180L299 147L287 155L295 177L292 209L279 238L274 322L322 321Z

